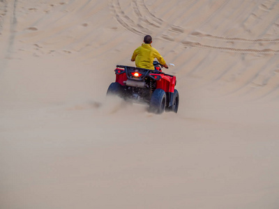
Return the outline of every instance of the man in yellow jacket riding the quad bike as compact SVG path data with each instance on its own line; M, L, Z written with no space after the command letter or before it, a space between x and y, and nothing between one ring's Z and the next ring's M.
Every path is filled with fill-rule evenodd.
M151 42L152 37L149 35L145 36L144 43L142 46L135 49L131 61L135 61L137 68L154 70L153 61L156 58L161 65L163 65L165 68L169 68L163 59L163 56L161 56L156 49L151 47Z

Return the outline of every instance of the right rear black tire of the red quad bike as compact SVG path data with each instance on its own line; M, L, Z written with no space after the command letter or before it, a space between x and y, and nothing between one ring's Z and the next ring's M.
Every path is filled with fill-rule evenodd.
M165 111L167 96L163 89L157 88L151 95L149 111L162 114Z

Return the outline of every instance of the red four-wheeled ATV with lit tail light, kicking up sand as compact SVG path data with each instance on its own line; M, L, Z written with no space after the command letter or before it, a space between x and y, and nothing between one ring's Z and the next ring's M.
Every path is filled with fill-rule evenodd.
M149 111L179 109L179 92L174 88L176 77L162 72L160 63L153 62L156 70L116 65L116 81L110 84L107 95L118 95L125 100L149 104Z

